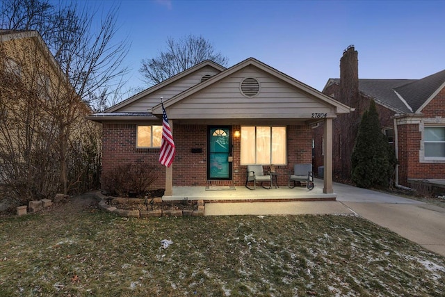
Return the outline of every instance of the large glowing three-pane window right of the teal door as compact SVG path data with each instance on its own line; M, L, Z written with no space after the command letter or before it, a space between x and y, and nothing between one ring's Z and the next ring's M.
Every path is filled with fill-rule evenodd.
M241 165L286 164L286 127L241 127Z

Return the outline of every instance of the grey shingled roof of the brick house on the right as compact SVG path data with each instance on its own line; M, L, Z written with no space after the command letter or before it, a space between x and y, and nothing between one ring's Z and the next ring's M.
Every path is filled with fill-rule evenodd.
M323 91L340 79L329 79ZM396 113L420 113L445 87L445 70L423 79L359 79L359 92Z

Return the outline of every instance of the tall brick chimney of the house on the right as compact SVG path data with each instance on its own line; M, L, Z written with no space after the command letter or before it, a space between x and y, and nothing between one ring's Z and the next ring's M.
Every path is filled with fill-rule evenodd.
M359 97L359 59L353 45L343 51L340 59L340 97L348 106L355 106Z

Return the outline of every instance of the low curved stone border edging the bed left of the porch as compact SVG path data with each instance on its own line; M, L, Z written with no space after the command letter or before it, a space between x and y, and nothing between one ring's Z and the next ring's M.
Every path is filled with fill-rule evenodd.
M156 209L153 211L145 210L128 210L128 209L118 209L107 204L109 197L97 191L95 193L96 198L99 200L99 207L106 211L113 212L119 216L124 216L127 218L150 218L150 217L161 217L161 216L204 216L204 200L197 200L197 210L181 210L181 209ZM131 199L131 198L130 198ZM155 198L156 199L156 198ZM161 200L162 201L162 200ZM159 201L159 202L161 202ZM169 201L172 202L172 201ZM174 201L173 201L174 202Z

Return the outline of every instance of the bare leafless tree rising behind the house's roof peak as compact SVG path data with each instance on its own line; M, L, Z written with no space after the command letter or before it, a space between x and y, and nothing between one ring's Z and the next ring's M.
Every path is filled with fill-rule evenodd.
M227 65L227 58L216 52L211 42L202 36L188 35L179 41L168 38L165 51L156 58L144 59L139 72L152 86L205 60Z

